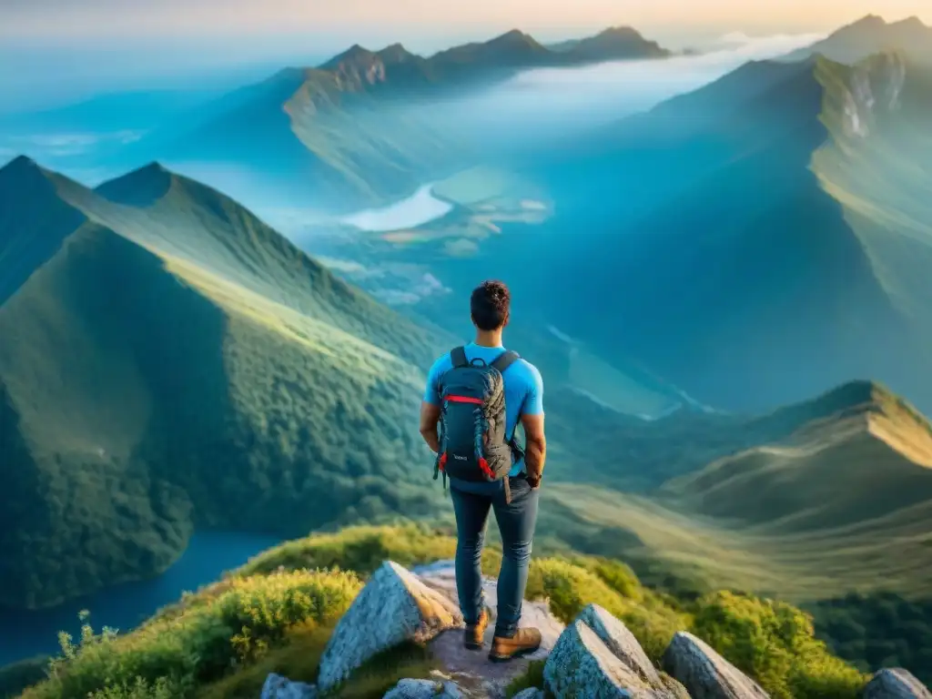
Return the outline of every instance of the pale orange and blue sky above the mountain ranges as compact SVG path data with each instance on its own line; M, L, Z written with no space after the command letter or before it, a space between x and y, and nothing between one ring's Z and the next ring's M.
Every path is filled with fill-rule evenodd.
M354 43L431 53L514 27L550 41L627 24L683 48L870 12L932 24L932 0L0 0L0 112L208 77L232 87Z

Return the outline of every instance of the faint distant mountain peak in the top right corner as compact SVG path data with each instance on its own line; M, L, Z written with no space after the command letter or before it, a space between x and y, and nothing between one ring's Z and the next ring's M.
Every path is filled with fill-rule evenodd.
M932 61L932 27L926 26L918 17L887 22L877 15L868 15L843 26L811 47L793 51L784 60L802 61L817 54L850 64L889 50L906 51L914 59Z

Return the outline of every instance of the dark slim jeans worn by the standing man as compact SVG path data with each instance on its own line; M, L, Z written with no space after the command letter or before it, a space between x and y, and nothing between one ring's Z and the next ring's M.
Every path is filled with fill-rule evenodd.
M495 510L503 558L499 571L499 612L495 635L512 637L521 620L521 602L528 585L531 541L537 523L540 489L533 490L522 473L509 479L511 503L498 483L450 481L450 496L457 516L457 594L467 624L475 624L485 606L482 591L482 546L488 511Z

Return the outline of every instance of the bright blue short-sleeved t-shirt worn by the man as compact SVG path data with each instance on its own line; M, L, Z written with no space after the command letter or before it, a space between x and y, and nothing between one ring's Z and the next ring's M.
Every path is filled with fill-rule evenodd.
M505 351L503 347L481 347L474 342L466 345L464 349L466 350L467 361L471 362L478 357L488 364L497 360L501 353ZM440 377L452 368L453 360L449 352L433 363L431 371L427 375L427 389L424 391L424 401L426 403L440 404L437 384ZM519 359L509 366L502 378L505 382L505 436L507 439L511 439L514 436L518 419L522 415L541 415L543 413L543 379L537 367L523 359ZM523 470L524 459L514 464L509 475L518 475Z

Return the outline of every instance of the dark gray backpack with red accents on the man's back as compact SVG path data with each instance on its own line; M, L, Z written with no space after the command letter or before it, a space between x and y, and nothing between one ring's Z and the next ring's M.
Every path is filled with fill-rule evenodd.
M504 481L511 501L508 473L524 451L505 436L505 382L502 375L519 359L505 350L492 363L466 360L462 347L450 352L453 366L439 380L440 452L433 470L464 481Z

